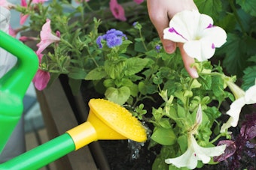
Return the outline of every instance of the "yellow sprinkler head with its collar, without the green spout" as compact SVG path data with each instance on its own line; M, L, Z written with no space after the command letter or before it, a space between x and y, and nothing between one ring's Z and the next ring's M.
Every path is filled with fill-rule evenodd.
M103 99L89 102L87 122L67 131L75 143L75 150L90 142L109 139L132 139L145 142L145 127L125 108Z

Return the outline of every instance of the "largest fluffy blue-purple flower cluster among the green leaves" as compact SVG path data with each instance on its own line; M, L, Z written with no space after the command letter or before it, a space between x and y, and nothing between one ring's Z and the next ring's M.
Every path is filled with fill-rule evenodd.
M120 46L123 43L123 37L127 39L126 35L122 31L116 30L114 28L108 30L106 34L97 37L96 43L99 48L102 48L102 40L105 40L109 48L114 46Z

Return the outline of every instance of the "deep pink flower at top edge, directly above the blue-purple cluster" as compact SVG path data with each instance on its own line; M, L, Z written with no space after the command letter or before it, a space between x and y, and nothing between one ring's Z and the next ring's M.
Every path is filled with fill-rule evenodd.
M109 6L110 6L111 13L116 19L120 19L121 21L126 21L123 7L117 3L117 0L110 0Z

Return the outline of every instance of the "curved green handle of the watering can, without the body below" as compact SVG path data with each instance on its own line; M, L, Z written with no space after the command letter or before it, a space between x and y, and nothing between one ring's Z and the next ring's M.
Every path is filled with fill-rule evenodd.
M11 91L24 97L38 70L38 57L28 46L0 31L0 47L17 57L16 66L0 79L0 91Z

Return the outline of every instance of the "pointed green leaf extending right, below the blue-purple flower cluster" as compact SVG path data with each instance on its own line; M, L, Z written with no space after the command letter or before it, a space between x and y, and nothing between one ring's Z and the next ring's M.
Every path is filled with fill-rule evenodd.
M148 64L148 59L146 58L129 58L126 60L126 70L124 74L126 76L132 76L139 73Z

